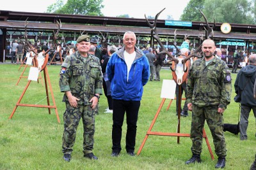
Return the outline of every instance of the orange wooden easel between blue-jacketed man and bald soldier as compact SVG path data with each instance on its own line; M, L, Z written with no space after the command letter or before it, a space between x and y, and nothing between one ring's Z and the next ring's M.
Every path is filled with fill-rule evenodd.
M166 98L163 98L162 101L161 101L161 104L159 106L159 108L157 109L157 112L156 112L156 115L154 117L154 119L152 120L152 123L150 125L150 127L148 128L148 131L147 131L147 134L145 136L145 138L143 139L143 142L141 143L141 146L138 150L138 153L137 155L140 155L140 152L143 148L143 146L145 145L146 141L147 141L147 138L149 135L157 135L157 136L177 136L177 143L179 143L179 138L180 137L190 137L190 134L184 134L184 133L180 133L180 106L181 106L181 86L179 85L179 107L178 107L178 131L175 133L171 133L171 132L152 132L152 128L156 122L156 119L161 111L161 108L163 107L163 104L164 104L164 101L166 100ZM169 105L172 104L172 102L169 103ZM169 106L170 107L170 106ZM203 129L203 138L205 138L205 141L207 143L207 146L208 146L208 150L210 152L210 155L211 155L211 159L214 160L214 156L212 154L212 150L211 150L211 146L210 146L210 143L209 143L209 140L207 138L207 135L205 133L205 130Z

